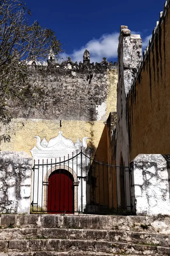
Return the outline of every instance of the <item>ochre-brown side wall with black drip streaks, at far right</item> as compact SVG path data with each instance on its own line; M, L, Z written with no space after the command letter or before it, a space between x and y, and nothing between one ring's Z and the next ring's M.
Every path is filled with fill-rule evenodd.
M170 154L170 1L153 30L127 96L130 161Z

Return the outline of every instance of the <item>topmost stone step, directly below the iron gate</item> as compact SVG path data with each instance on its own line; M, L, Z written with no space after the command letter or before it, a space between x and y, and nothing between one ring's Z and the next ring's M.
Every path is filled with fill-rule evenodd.
M127 230L170 235L170 218L107 215L1 215L1 227Z

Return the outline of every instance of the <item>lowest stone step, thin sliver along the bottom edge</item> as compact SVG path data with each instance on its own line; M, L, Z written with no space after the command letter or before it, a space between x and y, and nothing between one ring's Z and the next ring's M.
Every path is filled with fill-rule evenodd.
M0 256L122 256L123 254L112 253L91 253L91 252L13 252L13 253L0 253ZM125 255L125 254L124 254ZM126 256L139 256L139 254L126 254ZM141 255L144 256L144 255Z

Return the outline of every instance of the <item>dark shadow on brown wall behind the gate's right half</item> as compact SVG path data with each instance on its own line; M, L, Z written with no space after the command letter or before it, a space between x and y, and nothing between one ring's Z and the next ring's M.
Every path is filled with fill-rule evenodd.
M96 149L95 161L91 162L88 173L88 183L90 186L90 204L95 206L95 210L107 212L109 209L116 209L116 169L108 166L108 141L107 125L105 125ZM108 164L111 164L108 162Z

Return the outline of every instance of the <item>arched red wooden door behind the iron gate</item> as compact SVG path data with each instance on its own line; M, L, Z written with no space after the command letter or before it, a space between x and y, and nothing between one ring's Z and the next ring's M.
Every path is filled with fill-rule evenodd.
M73 176L67 170L56 170L48 178L47 211L50 213L74 212Z

